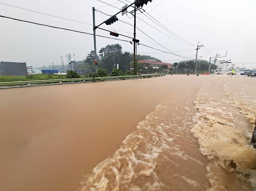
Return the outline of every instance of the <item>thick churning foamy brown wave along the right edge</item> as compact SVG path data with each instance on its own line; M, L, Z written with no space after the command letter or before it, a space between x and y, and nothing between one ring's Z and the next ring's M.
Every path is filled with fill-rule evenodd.
M256 149L250 145L253 127L249 123L255 123L255 99L230 84L198 92L191 132L210 160L209 190L256 190Z

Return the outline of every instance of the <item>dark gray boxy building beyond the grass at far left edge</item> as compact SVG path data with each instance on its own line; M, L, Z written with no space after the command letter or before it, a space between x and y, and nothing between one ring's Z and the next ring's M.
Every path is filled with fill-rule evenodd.
M0 76L28 75L26 62L0 62Z

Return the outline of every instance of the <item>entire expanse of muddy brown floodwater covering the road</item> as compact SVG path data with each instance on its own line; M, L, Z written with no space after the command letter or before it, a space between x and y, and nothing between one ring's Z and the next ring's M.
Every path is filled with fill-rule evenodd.
M2 89L0 190L255 190L255 80Z

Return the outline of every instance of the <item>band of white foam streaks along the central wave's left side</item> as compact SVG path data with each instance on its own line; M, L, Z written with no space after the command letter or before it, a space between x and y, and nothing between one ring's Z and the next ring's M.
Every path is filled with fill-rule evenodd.
M158 105L154 112L139 122L137 131L124 139L120 149L112 157L99 163L90 174L86 174L77 190L161 190L164 184L154 172L156 160L165 150L170 150L175 138L165 132L165 129L170 128L165 124L170 124L170 121L165 123L163 118L158 117L167 108ZM136 180L139 180L139 184L133 183Z

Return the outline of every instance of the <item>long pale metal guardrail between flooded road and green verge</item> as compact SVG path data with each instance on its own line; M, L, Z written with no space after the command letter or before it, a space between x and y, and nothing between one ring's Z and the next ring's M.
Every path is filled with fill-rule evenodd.
M131 78L147 78L159 77L165 74L143 74L133 76L109 76L109 77L82 77L72 79L48 79L48 80L32 80L32 81L16 81L16 82L0 82L0 86L13 86L13 85L28 85L30 84L49 84L49 83L72 83L72 82L88 82L88 81L104 81L114 79L131 79Z

